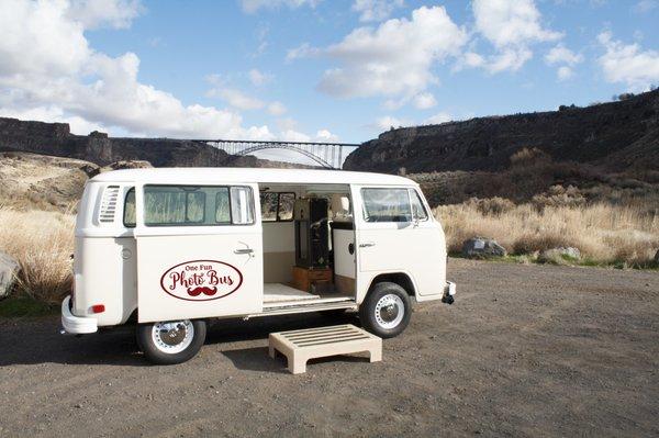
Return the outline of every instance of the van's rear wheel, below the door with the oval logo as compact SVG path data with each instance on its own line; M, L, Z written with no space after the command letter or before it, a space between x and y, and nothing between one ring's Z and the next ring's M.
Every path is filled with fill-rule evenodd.
M155 326L163 324L178 324L176 328L170 329L169 332L165 332L165 328L160 330L157 335L154 334ZM192 334L190 335L191 339L186 340L186 336L188 336L189 327L192 327ZM186 328L188 327L188 328ZM171 334L171 335L169 335ZM183 339L180 342L175 344L174 346L167 346L166 342L160 342L156 340L156 337L159 339L160 336L168 337L179 337L182 336ZM178 322L170 323L147 323L147 324L138 324L137 325L137 345L139 349L144 352L144 356L153 363L156 364L176 364L186 362L194 357L197 352L199 352L201 346L205 341L206 335L206 324L202 319L185 319ZM177 341L175 339L174 341ZM180 344L186 344L186 346L179 351L181 348ZM163 345L160 347L159 345ZM171 351L166 351L167 349L171 349Z

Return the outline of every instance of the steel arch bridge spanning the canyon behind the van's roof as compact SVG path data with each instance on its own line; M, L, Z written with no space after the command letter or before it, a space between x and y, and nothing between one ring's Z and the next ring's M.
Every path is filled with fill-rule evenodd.
M199 139L194 142L205 143L227 154L239 156L266 149L293 150L327 169L340 169L344 158L360 146L354 143L259 142L239 139Z

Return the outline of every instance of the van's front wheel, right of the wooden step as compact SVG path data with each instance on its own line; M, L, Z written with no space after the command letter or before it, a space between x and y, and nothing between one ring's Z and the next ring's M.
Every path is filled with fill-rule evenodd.
M403 314L399 318L401 311ZM388 281L376 284L359 306L359 321L364 328L381 338L392 338L403 333L411 317L410 295L400 285Z

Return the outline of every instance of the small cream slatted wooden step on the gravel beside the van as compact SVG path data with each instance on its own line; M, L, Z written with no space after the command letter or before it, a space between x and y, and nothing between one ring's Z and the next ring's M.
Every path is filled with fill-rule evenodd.
M301 330L271 333L268 350L273 359L276 350L288 359L293 374L306 371L306 361L313 358L368 351L371 362L382 360L382 339L351 324Z

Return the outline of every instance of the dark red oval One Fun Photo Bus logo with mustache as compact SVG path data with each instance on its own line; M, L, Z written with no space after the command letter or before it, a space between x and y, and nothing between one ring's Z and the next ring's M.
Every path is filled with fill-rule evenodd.
M211 301L231 295L243 284L243 273L220 260L190 260L174 266L160 277L160 288L187 301Z

